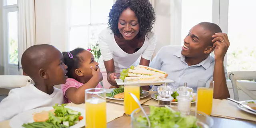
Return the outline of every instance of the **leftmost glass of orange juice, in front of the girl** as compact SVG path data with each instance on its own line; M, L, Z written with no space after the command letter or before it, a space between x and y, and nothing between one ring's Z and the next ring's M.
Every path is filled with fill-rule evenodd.
M106 89L85 90L86 128L107 128Z

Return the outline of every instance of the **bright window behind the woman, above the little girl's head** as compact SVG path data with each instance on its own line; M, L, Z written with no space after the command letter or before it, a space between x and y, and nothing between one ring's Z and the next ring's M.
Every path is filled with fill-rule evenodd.
M72 0L70 4L69 50L88 48L98 34L108 27L108 13L114 0Z

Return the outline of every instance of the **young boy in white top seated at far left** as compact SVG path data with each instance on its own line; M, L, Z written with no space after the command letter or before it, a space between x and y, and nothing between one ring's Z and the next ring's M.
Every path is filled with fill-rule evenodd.
M35 84L10 91L0 103L0 121L26 110L63 103L63 92L54 87L67 79L67 66L58 49L48 44L31 46L22 55L21 64Z

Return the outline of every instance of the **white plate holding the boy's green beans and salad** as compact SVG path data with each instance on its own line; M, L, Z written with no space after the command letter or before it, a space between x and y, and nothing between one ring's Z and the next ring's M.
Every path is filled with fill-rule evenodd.
M70 128L81 128L85 126L85 110L81 109L81 108L76 108L76 107L68 107L65 106L66 108L70 108L74 111L78 111L81 112L81 116L83 116L84 118L82 120L80 120L77 124L71 126ZM33 120L33 114L38 113L38 112L42 112L42 111L49 111L52 110L52 107L44 107L44 108L36 108L33 110L28 110L25 112L22 112L16 116L14 116L11 120L10 120L10 126L11 128L24 128L22 127L22 125L24 123L32 123L34 122Z

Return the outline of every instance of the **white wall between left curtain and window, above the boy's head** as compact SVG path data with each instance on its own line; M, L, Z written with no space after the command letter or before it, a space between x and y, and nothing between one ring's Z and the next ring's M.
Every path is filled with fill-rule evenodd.
M68 0L35 0L36 44L51 44L66 51Z

